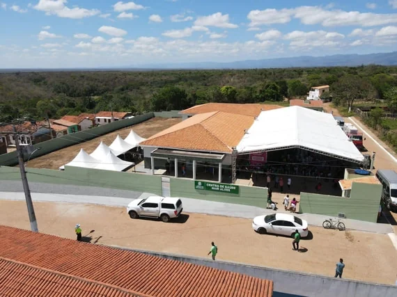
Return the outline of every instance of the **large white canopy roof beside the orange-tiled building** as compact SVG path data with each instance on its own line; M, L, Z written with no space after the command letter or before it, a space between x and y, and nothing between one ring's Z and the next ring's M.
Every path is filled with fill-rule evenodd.
M301 106L262 111L237 146L239 153L300 147L360 163L364 156L330 113Z

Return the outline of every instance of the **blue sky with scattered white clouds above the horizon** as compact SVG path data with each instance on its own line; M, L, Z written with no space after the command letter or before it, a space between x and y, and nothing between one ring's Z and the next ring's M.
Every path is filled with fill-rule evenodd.
M397 49L397 0L0 0L0 28L0 68L368 54Z

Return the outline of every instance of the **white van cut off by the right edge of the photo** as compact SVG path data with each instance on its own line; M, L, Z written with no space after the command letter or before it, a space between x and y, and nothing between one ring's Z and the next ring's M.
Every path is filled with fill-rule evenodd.
M397 210L397 172L394 170L377 170L376 177L382 183L382 200L387 209Z

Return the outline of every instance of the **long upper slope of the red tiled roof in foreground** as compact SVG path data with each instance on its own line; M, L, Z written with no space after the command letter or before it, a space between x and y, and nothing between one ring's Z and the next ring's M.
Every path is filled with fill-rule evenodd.
M0 242L0 257L146 296L266 297L273 291L270 280L13 227L0 226ZM43 278L38 273L26 282ZM84 296L95 296L86 290ZM40 296L54 295L43 286Z

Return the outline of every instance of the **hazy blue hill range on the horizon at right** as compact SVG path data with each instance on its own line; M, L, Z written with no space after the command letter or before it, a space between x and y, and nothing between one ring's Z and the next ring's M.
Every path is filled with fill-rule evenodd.
M379 54L340 54L333 56L298 56L265 60L246 60L228 63L162 63L139 65L150 69L251 69L251 68L290 68L290 67L332 67L359 65L397 65L397 51ZM130 66L128 68L135 68Z

